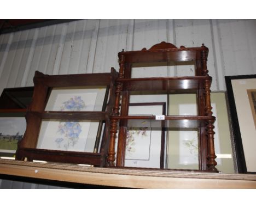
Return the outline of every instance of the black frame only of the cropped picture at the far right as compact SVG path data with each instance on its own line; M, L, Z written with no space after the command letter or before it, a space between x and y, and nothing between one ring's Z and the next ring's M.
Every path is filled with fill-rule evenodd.
M237 109L240 108L241 106L238 106L235 101L236 92L234 91L234 86L232 86L232 80L235 80L235 79L240 79L242 85L246 84L247 79L255 79L255 83L256 83L256 75L225 76L226 90L228 95L228 103L229 103L230 117L231 117L231 127L232 127L233 136L234 136L238 173L256 174L256 170L253 172L248 172L247 170L245 149L243 148L243 139L245 138L242 138L241 127L240 127L241 124L238 123L238 114L237 114ZM247 91L245 93L247 94ZM242 107L244 108L245 106L242 106ZM248 109L248 111L251 112L251 108Z

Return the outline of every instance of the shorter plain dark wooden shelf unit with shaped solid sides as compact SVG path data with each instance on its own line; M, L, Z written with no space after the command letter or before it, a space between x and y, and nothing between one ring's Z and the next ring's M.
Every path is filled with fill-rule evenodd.
M27 129L24 138L18 144L16 160L42 160L49 162L89 164L94 166L106 166L106 157L109 145L109 116L114 106L114 81L118 73L111 69L110 73L101 74L75 74L75 75L44 75L36 71L34 76L34 93L31 105L27 109ZM49 93L53 88L72 87L97 87L106 86L109 91L105 95L109 97L107 105L103 105L102 111L46 111ZM109 90L108 90L109 89ZM102 103L103 104L103 103ZM94 120L105 123L103 138L96 139L94 152L49 150L37 148L40 125L43 119L55 120ZM100 125L99 129L102 126ZM101 142L100 150L97 151Z

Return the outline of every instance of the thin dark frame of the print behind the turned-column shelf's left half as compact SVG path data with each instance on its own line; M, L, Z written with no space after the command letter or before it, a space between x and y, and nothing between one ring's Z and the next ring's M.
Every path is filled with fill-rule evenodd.
M162 106L162 115L166 114L166 103L165 102L138 102L138 103L129 103L129 106ZM129 121L128 121L129 122ZM164 169L165 166L165 132L166 128L162 125L161 128L161 148L160 148L160 164L159 168ZM127 139L127 138L126 138ZM126 167L126 166L125 166Z

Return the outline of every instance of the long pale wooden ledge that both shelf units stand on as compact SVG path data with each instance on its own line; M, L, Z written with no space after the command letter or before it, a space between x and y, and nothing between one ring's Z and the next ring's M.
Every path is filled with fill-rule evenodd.
M133 188L256 188L256 175L95 168L0 160L0 174Z

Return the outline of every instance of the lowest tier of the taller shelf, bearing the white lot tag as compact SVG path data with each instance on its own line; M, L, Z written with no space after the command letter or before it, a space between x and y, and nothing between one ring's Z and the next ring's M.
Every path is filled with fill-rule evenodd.
M110 119L120 120L120 126L127 127L154 127L168 129L194 129L207 120L215 120L213 116L198 115L166 115L165 120L155 120L155 115L127 115L112 116ZM123 122L122 122L123 121Z

